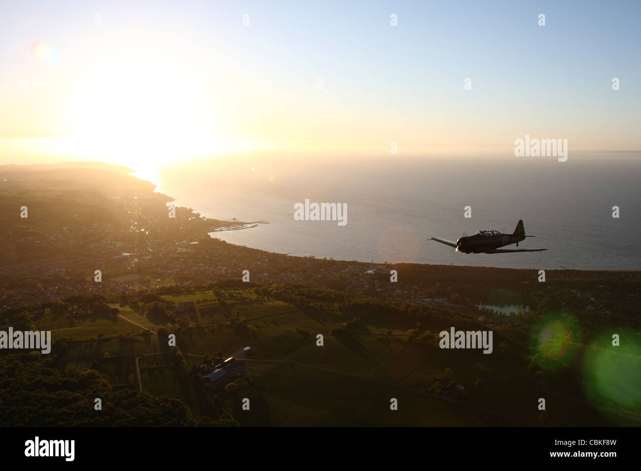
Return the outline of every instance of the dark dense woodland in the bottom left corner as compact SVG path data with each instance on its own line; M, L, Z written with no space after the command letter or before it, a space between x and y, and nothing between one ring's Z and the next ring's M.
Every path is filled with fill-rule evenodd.
M102 410L96 410L95 399ZM196 422L178 399L112 391L96 370L60 370L40 352L0 357L0 423L8 427L180 427Z

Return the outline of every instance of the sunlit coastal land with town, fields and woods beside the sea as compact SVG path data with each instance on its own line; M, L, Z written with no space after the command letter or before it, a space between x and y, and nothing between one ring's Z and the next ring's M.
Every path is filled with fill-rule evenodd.
M51 331L53 343L46 363L34 352L16 359L3 349L0 372L13 374L11 361L19 361L33 381L85 375L88 388L113 401L135 398L141 411L163 404L179 416L145 419L156 425L304 425L305 414L288 413L297 401L306 410L323 402L314 420L343 424L349 401L370 397L375 407L381 400L374 383L389 397L410 390L410 410L425 408L418 415L399 408L399 425L639 420L612 398L588 402L581 393L584 354L608 355L629 372L597 370L617 385L613 394L635 381L620 361L637 354L628 331L641 327L638 272L549 270L541 283L538 270L265 252L216 238L225 228L260 230L255 224L180 206L169 217L171 197L126 170L65 170L65 187L56 170L0 169L0 329ZM612 325L628 339L616 356L604 350ZM459 349L463 337L456 341L452 326L484 354ZM451 338L440 338L449 330ZM318 335L324 342L317 344ZM456 348L440 348L445 340ZM333 399L347 391L353 399ZM565 415L552 420L528 406L544 393L563 402ZM15 402L20 390L4 394ZM240 413L247 397L261 404L254 415ZM24 417L20 410L4 421ZM383 424L378 415L353 414L351 424Z

